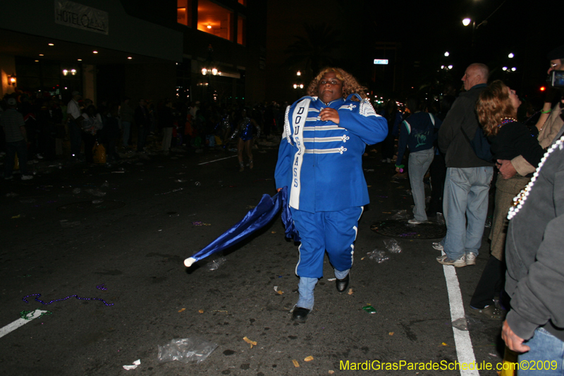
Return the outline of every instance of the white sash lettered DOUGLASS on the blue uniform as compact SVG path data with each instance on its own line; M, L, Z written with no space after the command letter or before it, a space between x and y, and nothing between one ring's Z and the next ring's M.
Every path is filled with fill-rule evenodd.
M300 209L300 190L302 188L300 173L302 171L302 162L305 154L303 133L310 102L311 99L302 100L296 105L292 114L292 139L294 140L294 145L298 147L298 151L294 154L292 163L292 187L290 189L290 207L294 209Z

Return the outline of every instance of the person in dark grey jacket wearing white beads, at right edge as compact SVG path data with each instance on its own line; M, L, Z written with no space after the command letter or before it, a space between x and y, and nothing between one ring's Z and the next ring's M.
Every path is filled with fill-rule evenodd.
M519 375L562 375L564 351L564 137L548 148L508 214L501 334L520 353ZM549 371L550 370L550 371ZM535 373L537 375L537 373Z

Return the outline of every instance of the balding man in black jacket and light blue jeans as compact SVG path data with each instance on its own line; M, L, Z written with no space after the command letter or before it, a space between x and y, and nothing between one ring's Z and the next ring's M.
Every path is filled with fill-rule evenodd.
M475 106L488 75L484 64L466 68L462 77L466 92L455 100L439 129L439 148L446 154L447 167L443 202L446 236L434 248L446 253L437 257L443 265L475 265L482 245L494 164L476 156L462 130L472 139L479 127Z

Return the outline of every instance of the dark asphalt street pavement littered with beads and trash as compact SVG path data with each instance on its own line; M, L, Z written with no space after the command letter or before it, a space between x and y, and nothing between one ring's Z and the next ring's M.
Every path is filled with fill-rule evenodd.
M298 247L284 238L279 217L240 245L184 267L263 194L276 192L278 142L259 143L255 168L243 172L234 152L209 150L113 166L40 162L33 180L2 181L0 375L460 375L407 369L452 364L461 349L440 252L431 248L438 240L398 238L402 251L390 253L390 238L369 229L412 205L408 181L394 181L379 153L364 158L372 202L360 219L351 290L336 291L326 259L307 322L290 320ZM468 306L489 257L488 232L477 265L455 272L471 350L477 363L495 367L503 358L501 321ZM389 259L370 259L374 250ZM20 320L39 315L34 310L48 314ZM158 346L183 338L217 347L200 363L159 363ZM137 359L134 370L123 368ZM359 364L400 361L399 370Z

